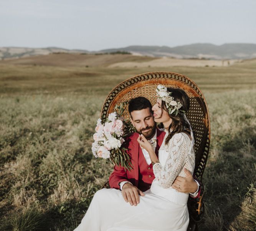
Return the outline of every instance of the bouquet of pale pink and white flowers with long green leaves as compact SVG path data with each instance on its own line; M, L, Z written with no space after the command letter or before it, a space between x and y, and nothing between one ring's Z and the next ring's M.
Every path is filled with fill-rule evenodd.
M105 123L101 119L97 120L93 134L92 153L96 158L107 159L109 163L121 165L125 169L132 169L130 156L126 153L124 143L124 128L126 121L116 112L109 114Z

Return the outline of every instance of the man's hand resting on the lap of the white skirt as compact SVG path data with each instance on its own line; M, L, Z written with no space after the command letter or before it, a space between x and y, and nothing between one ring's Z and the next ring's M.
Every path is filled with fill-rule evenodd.
M139 195L144 196L145 194L139 190L136 186L126 183L122 188L122 195L126 202L130 202L130 205L137 205L140 203Z

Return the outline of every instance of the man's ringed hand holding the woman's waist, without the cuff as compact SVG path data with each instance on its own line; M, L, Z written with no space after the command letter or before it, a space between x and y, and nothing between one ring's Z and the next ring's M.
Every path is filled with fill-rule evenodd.
M184 169L186 177L177 176L172 184L173 189L184 193L194 193L197 191L198 185L188 169Z

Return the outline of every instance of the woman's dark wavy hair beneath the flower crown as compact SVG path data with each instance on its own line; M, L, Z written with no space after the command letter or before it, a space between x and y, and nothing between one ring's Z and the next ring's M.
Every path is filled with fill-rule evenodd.
M190 134L190 126L184 118L184 113L180 112L180 110L185 111L185 112L187 112L189 110L190 100L188 98L187 93L185 93L185 91L183 91L180 88L167 88L167 91L172 92L171 96L174 98L175 101L180 101L182 104L182 107L179 109L179 112L177 115L169 114L170 118L172 119L172 123L170 124L170 126L168 128L169 135L167 136L167 138L165 140L165 145L168 144L169 140L176 133L185 132L185 133ZM163 113L163 110L165 110L165 111L167 111L167 113L169 113L164 101L162 101L161 107L162 107L162 113ZM159 127L163 128L164 125L161 123L159 125ZM172 131L170 131L171 129L172 129Z

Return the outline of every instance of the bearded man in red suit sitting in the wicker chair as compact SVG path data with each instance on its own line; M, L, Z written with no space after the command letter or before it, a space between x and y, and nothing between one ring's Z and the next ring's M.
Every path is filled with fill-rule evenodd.
M111 188L122 190L122 196L130 205L137 205L140 201L139 195L144 196L146 190L150 189L154 180L153 166L149 153L140 147L137 142L139 134L143 134L152 143L155 153L158 156L159 148L163 142L165 132L157 129L152 112L150 101L144 97L137 97L129 101L128 107L132 125L137 133L132 133L126 138L124 144L128 154L131 156L133 169L125 171L120 166L114 166L114 171L109 177ZM179 192L190 193L190 196L197 198L200 195L200 184L193 179L190 171L185 169L187 177L177 176L172 187Z

